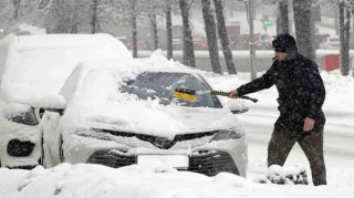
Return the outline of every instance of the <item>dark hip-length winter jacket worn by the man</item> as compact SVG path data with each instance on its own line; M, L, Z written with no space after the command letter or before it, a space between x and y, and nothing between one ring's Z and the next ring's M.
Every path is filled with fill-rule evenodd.
M305 117L315 119L313 132L323 129L325 88L315 62L292 52L285 60L274 61L264 75L237 91L239 95L246 95L272 85L279 92L280 117L275 131L290 129L298 135L303 134Z

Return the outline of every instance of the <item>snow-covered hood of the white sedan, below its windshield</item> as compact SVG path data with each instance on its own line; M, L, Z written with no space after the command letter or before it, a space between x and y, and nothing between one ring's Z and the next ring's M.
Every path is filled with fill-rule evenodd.
M169 139L180 134L240 127L239 119L227 108L165 106L154 101L114 105L111 103L100 106L81 104L73 110L75 111L72 113L76 114L76 118L92 128L154 135Z

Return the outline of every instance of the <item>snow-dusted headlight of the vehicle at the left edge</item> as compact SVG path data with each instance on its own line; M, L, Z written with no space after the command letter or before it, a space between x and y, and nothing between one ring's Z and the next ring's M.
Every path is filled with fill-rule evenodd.
M10 103L3 108L3 115L14 123L27 125L37 125L39 123L34 115L34 108L27 104Z

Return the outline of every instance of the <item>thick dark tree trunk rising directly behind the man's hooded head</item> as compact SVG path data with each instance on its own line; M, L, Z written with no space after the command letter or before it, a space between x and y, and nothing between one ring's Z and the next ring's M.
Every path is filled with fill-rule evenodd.
M312 0L293 0L294 22L296 32L298 50L304 56L315 61L313 45L314 23L311 22Z

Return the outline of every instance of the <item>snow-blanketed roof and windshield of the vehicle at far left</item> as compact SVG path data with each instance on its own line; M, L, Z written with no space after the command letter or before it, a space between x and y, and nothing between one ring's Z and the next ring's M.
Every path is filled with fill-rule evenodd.
M37 106L58 93L79 63L96 59L133 59L110 34L9 34L0 41L1 97Z

